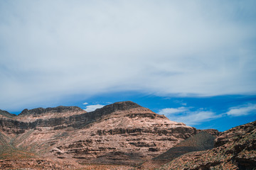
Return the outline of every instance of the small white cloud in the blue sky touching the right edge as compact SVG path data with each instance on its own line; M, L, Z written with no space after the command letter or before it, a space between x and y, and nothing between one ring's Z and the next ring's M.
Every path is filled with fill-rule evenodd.
M227 115L231 116L241 116L241 115L249 115L256 113L256 104L247 104L246 106L237 106L230 108L227 112Z

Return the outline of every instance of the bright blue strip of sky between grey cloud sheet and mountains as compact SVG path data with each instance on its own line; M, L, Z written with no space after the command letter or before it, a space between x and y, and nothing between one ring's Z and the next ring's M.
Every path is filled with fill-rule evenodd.
M51 106L44 105L31 108L23 108L16 112L8 112L18 115L24 109L31 110L33 108L55 108L58 106L77 106L84 111L92 112L97 108L102 108L112 103L132 101L139 104L139 106L149 108L154 113L165 115L166 118L169 118L169 120L185 123L186 125L202 130L216 129L220 132L223 132L225 130L229 130L230 128L235 128L238 125L244 125L256 120L255 105L250 104L252 101L256 101L256 96L250 96L249 98L248 96L232 96L231 98L230 96L215 96L215 98L161 98L144 95L142 95L141 98L138 98L138 95L131 96L130 94L127 94L125 97L124 96L122 96L122 100L119 101L116 98L112 98L107 101L106 98L108 98L108 95L106 95L101 96L102 101L97 101L99 97L95 97L91 98L91 100L87 100L87 102L76 101L70 103L70 101L68 101L65 104L59 103ZM129 98L133 98L133 100L128 100ZM147 98L147 100L144 100L145 98ZM236 100L234 100L234 98L236 98ZM202 101L203 103L201 103ZM240 103L241 101L244 101L247 104L236 104L235 106L237 107L233 107L234 103ZM213 103L215 103L215 106L212 105ZM218 103L229 104L228 106L220 107ZM166 106L169 106L169 108L166 108ZM202 106L206 107L202 108ZM246 109L247 111L245 111ZM239 114L237 112L236 114L230 114L239 110L241 110ZM227 121L232 121L232 123L227 123Z

